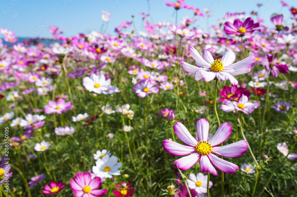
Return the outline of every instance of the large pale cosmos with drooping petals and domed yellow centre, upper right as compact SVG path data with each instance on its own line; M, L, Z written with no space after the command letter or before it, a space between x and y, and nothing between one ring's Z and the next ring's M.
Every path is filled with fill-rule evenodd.
M221 60L214 60L208 50L203 52L202 57L192 46L189 46L189 52L196 61L196 66L181 62L181 68L189 73L195 73L194 78L196 81L203 78L206 82L209 82L217 77L220 82L230 80L233 85L237 85L238 81L233 76L250 72L255 64L255 57L252 55L233 63L236 55L232 51L227 51Z

